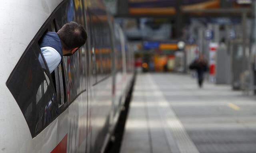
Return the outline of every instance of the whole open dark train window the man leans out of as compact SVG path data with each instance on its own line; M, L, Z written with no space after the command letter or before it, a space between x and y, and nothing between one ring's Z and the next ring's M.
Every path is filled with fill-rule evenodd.
M55 31L54 22L50 20L40 29L6 82L32 137L46 128L67 106L63 63L50 74L39 45L48 31Z

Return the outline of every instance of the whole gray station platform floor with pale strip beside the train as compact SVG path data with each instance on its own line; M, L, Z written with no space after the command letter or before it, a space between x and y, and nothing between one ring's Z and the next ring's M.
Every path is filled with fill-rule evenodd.
M256 153L256 97L189 75L138 74L120 153Z

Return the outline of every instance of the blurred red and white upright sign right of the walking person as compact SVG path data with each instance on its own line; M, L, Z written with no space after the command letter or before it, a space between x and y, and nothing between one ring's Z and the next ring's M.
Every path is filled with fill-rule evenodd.
M218 43L210 43L209 44L209 64L210 64L210 81L215 82L216 80L216 56L217 56L217 49Z

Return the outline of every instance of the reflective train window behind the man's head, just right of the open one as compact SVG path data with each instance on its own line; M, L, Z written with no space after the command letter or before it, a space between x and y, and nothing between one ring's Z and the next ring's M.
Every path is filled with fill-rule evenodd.
M76 14L76 16L75 16ZM67 0L55 14L57 30L70 21L85 25L81 0ZM67 102L72 102L78 94L86 90L86 45L74 55L63 57Z

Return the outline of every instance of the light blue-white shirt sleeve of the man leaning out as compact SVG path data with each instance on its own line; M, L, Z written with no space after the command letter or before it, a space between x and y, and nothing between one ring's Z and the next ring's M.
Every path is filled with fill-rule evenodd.
M52 47L42 47L41 51L44 55L44 59L48 65L49 71L52 73L60 64L61 56L58 51Z

